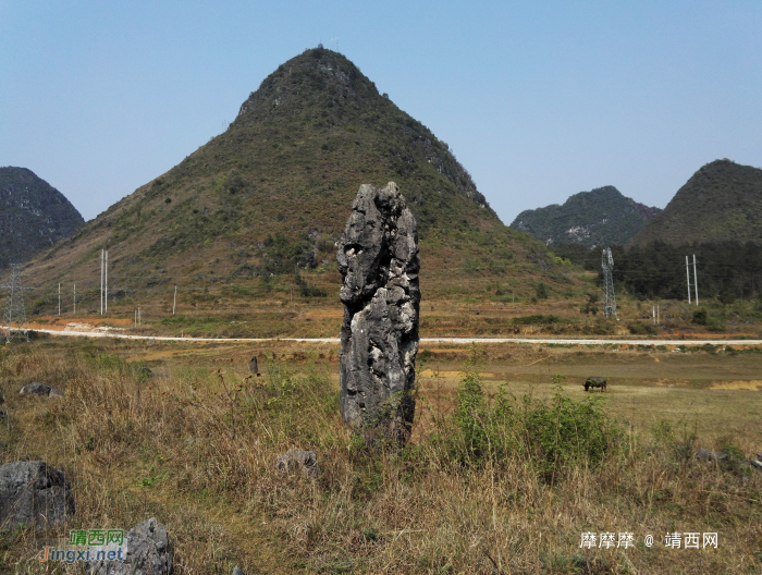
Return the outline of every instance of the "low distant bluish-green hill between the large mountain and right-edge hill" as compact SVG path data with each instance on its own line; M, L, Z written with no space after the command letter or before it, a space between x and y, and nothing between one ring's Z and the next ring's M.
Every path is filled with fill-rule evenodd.
M661 210L638 204L614 186L574 194L564 203L525 210L511 224L545 245L595 247L624 244Z

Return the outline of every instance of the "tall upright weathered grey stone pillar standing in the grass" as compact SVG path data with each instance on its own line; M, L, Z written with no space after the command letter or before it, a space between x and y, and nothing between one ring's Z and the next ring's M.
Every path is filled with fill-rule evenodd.
M416 220L394 182L360 186L336 247L342 418L371 445L402 445L415 412L420 259Z

